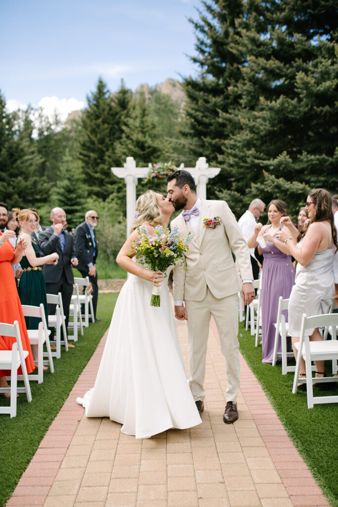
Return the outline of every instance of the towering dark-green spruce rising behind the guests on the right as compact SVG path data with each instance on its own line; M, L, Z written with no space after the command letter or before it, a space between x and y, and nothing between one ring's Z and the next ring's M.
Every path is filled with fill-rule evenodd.
M186 80L186 111L188 120L191 111L201 119L199 123L192 117L193 126L189 125L197 143L206 138L204 128L211 134L209 146L222 166L221 193L227 194L231 205L246 195L243 211L253 190L258 190L251 182L267 186L269 174L279 183L284 178L281 192L295 185L294 192L288 192L293 208L300 199L299 188L307 191L303 183L334 190L338 183L334 170L336 2L213 0L204 5L206 14L200 13L200 22L194 25L201 76ZM216 83L221 90L221 107L210 108L210 101L219 95L204 96L205 83ZM209 129L212 116L214 130ZM219 190L220 178L212 181L214 190Z

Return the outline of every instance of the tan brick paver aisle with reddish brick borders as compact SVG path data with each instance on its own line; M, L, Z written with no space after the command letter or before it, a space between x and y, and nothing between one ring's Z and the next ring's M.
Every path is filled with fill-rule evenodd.
M184 360L186 327L178 332ZM210 326L203 423L135 440L87 419L76 397L93 386L104 339L20 480L8 506L292 507L329 505L241 358L239 420L224 424L226 378ZM174 372L173 372L174 374Z

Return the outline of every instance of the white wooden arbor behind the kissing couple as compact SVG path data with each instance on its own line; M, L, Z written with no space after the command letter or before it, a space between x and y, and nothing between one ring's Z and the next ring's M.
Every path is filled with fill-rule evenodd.
M135 202L136 202L136 185L138 178L145 178L148 175L148 167L136 167L136 162L133 157L127 157L124 167L111 167L112 172L119 178L124 178L127 186L127 236L134 221ZM209 167L206 163L205 157L200 157L196 162L195 167L184 167L184 164L179 166L179 169L185 169L191 173L196 183L197 196L201 199L207 197L207 183L209 178L216 176L220 167Z

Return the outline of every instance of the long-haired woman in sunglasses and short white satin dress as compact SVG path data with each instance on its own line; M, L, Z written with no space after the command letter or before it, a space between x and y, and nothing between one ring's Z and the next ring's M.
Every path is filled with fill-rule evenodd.
M297 261L295 285L292 287L288 315L289 334L292 344L299 341L302 314L308 317L327 313L334 294L333 255L337 249L337 232L334 227L332 199L324 189L314 189L308 195L306 208L310 222L305 236L293 226L288 216L281 218L286 225L277 236L289 247ZM286 231L285 231L286 229ZM322 340L318 329L307 330L311 341ZM297 351L293 348L295 357ZM324 376L324 361L315 361L316 377ZM302 359L301 373L305 377L305 362ZM320 384L320 386L325 384ZM306 384L299 387L306 388Z

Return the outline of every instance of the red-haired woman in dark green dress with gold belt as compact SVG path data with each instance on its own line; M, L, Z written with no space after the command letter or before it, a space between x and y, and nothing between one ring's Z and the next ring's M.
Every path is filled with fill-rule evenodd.
M30 236L35 231L39 215L30 209L15 210L18 218L20 233L19 238L27 241L27 248L24 250L20 265L22 275L19 283L19 297L22 305L40 306L43 303L45 308L46 322L48 322L48 307L46 299L46 283L41 269L43 264L56 264L58 254L51 253L40 257L39 248L35 240ZM25 317L27 329L37 329L40 319L36 317Z

